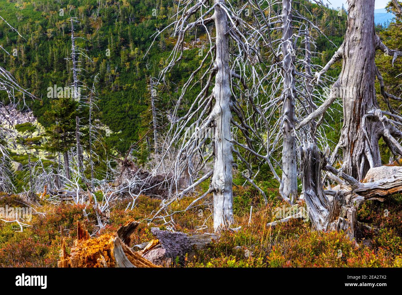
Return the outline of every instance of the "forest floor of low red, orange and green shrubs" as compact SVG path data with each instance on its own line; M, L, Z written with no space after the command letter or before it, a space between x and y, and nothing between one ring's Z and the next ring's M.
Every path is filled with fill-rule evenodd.
M191 197L182 199L173 209L183 210L191 201ZM0 208L23 207L23 202L16 195L0 194ZM114 233L130 218L142 221L131 236L130 246L152 240L152 227L166 229L160 224L147 224L146 218L160 205L160 199L147 196L140 196L133 210L125 210L129 199L115 203L110 216L102 216L105 228L100 232L94 210L86 205L51 204L46 197L39 199L39 203L34 209L43 214L33 214L22 232L18 232L15 222L1 223L1 267L56 267L60 226L64 228L67 252L70 252L77 235L77 221L84 223L94 236ZM240 230L223 232L209 248L186 257L184 263L173 260L172 267L402 267L401 195L383 203L368 201L361 207L358 220L368 224L371 230L366 227L357 242L351 242L344 233L314 232L310 223L301 219L267 226L275 220L276 208L283 204L274 198L268 205L263 204L254 189L234 187L234 226L241 226ZM250 205L253 214L249 224ZM195 233L210 212L209 205L201 205L175 214L175 230ZM212 232L212 225L209 218L205 223L207 228L201 233Z

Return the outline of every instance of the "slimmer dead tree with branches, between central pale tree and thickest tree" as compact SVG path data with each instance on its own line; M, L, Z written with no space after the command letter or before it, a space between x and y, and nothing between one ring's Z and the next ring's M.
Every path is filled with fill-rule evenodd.
M315 1L319 6L321 1ZM312 64L312 56L316 56L315 42L310 31L316 31L324 35L320 29L302 15L294 6L292 0L275 2L275 9L271 14L280 17L280 26L269 28L266 35L269 36L268 49L271 51L269 66L270 100L263 104L263 115L269 121L269 133L267 134L267 159L278 152L281 160L276 163L282 170L282 177L276 175L273 165L271 171L278 180L279 193L284 201L293 204L297 200L297 153L299 142L302 141L301 133L295 130L295 124L317 108L318 103L324 100L324 96L318 87L315 87L312 70L318 70L319 66ZM298 3L306 10L303 3ZM280 30L280 31L279 31ZM278 33L276 33L278 31ZM280 33L279 33L280 32ZM324 35L325 37L325 35ZM303 44L304 43L304 44ZM324 78L324 77L323 77ZM323 84L330 81L325 77ZM305 134L311 134L312 130L324 133L322 126L309 126ZM313 132L315 133L315 131ZM310 136L311 137L311 136ZM326 143L326 136L321 136L320 144Z

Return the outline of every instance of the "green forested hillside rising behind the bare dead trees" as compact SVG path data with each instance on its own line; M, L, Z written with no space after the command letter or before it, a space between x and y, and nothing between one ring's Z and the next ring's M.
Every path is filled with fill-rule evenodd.
M343 40L346 28L346 11L322 10L304 1L306 9L312 11L311 18L334 42L323 35L317 35L317 63L324 65ZM148 51L152 35L164 28L173 17L176 6L168 0L161 1L0 1L1 16L16 28L27 41L12 32L2 22L0 44L9 53L16 50L16 56L9 58L2 52L2 64L20 81L21 86L30 89L39 100L27 104L32 108L39 122L48 126L43 117L50 108L48 87L68 86L72 83L71 25L70 17L77 17L76 34L81 37L78 46L86 51L92 62L83 61L82 80L92 85L92 78L99 73L98 107L100 118L113 132L108 141L119 152L124 153L138 135L148 130L150 119L150 93L147 89L149 77L158 77L164 67L174 38L164 33L156 45ZM240 5L240 4L239 4ZM297 6L297 4L296 4ZM61 13L61 10L63 13ZM63 15L60 15L63 14ZM156 15L155 15L156 14ZM199 41L197 42L197 39ZM160 89L157 107L161 120L166 117L177 99L179 89L198 67L205 32L187 35L184 58L169 76L169 85ZM205 44L204 44L205 46ZM336 70L331 75L337 75ZM166 88L167 87L167 88ZM189 103L196 96L199 86L187 94ZM0 93L2 99L5 93ZM119 140L121 139L121 140Z

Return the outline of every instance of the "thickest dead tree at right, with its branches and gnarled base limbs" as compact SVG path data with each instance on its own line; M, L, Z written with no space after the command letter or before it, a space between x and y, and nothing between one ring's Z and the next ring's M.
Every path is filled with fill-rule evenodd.
M382 77L375 65L375 51L381 50L392 56L392 63L402 52L388 49L374 32L374 0L352 0L348 8L348 28L345 41L329 63L316 73L316 80L336 61L343 60L342 71L332 86L326 101L307 116L297 128L324 116L328 107L342 98L343 126L339 143L330 165L342 149L342 171L361 180L370 168L381 166L379 140L383 138L390 151L396 156L402 155L402 148L396 138L402 138L398 130L400 116L394 111L379 108L375 95L375 77ZM401 100L385 91L381 91L384 100ZM387 117L388 116L388 117Z

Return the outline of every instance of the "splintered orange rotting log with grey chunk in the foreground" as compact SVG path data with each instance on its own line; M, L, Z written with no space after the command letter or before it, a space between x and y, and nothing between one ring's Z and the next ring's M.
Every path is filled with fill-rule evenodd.
M77 240L71 249L66 252L66 240L61 228L62 245L58 267L170 267L172 261L178 257L183 262L186 254L193 257L197 250L207 248L214 240L215 234L197 234L189 236L183 232L169 232L151 228L157 238L137 252L129 248L131 234L139 225L132 219L125 222L116 234L104 234L91 239L85 226L77 222ZM135 247L134 246L134 247ZM134 248L133 247L133 248Z

